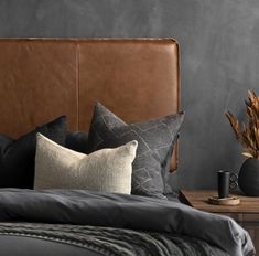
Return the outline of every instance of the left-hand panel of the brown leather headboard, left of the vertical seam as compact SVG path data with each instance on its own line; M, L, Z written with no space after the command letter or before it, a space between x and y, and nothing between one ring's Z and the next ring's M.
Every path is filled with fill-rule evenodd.
M75 43L0 41L0 134L18 137L66 115L77 129Z

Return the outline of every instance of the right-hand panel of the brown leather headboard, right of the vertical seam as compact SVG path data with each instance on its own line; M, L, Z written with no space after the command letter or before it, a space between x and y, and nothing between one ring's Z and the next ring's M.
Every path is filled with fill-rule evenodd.
M173 40L99 40L79 44L79 129L95 100L127 122L179 110L179 46ZM176 169L176 152L171 169Z

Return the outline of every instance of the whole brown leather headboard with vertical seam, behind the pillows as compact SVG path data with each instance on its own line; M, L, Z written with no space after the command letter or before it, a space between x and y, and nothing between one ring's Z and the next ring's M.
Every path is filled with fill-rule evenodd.
M0 132L11 137L60 115L69 129L88 130L95 100L127 122L161 117L179 111L179 45L171 39L2 39L0 95Z

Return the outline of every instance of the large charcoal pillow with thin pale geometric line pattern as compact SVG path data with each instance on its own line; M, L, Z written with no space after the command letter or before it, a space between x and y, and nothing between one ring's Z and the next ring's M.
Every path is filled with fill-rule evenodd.
M165 199L161 171L183 122L184 114L165 116L140 124L127 125L97 103L89 135L89 152L114 148L130 140L139 142L133 162L131 193Z

